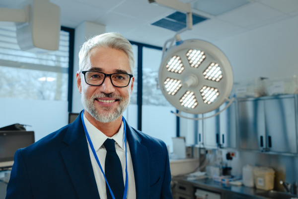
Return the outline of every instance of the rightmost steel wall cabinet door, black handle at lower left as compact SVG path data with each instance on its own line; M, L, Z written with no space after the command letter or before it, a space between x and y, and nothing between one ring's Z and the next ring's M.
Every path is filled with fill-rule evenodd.
M295 98L265 100L267 146L270 151L297 153Z

